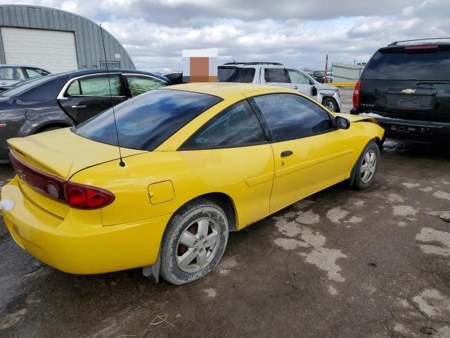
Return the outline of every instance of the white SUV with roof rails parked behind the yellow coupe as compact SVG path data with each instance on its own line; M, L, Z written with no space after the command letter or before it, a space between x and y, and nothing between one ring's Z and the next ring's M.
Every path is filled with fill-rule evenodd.
M225 63L219 65L219 82L259 83L292 88L307 94L330 111L340 112L339 89L320 84L302 70L276 62Z

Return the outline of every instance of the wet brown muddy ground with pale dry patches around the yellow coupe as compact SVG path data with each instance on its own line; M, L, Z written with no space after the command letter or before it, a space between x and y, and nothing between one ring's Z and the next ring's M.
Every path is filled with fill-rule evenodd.
M373 187L338 184L232 233L219 267L181 287L61 273L1 221L0 337L450 337L444 211L448 148L388 141Z

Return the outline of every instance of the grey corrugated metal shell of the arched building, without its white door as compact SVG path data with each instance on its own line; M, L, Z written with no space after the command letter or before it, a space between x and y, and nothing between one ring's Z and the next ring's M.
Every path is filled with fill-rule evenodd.
M0 5L0 27L35 28L74 32L78 67L100 68L105 61L100 26L80 15L55 8L27 5ZM120 68L135 69L122 44L103 30L108 61L120 61ZM115 58L120 54L120 59ZM3 41L0 35L0 63L5 63Z

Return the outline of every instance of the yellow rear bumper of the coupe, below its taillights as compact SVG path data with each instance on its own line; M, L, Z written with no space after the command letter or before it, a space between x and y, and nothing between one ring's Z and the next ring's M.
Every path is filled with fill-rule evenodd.
M108 227L80 224L33 204L20 191L17 177L3 188L1 198L14 201L13 210L2 215L21 248L53 268L83 275L155 264L171 216Z

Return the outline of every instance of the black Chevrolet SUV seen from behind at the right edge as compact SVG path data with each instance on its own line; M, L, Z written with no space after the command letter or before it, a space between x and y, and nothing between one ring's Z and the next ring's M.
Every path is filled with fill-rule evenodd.
M380 48L356 82L351 113L375 117L388 138L450 142L450 39L443 41Z

